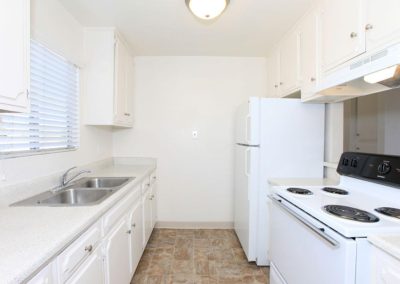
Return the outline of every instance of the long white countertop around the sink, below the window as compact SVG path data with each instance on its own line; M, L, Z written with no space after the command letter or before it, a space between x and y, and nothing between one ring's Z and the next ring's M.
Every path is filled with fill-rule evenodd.
M81 207L0 207L0 282L20 283L59 254L110 207L131 185L156 168L153 165L110 165L91 176L136 177L98 205ZM45 191L44 189L43 191Z

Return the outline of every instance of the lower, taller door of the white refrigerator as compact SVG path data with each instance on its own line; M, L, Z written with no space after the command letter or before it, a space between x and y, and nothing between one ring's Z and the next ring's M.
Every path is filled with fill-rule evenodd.
M234 228L249 261L255 260L258 148L235 146Z

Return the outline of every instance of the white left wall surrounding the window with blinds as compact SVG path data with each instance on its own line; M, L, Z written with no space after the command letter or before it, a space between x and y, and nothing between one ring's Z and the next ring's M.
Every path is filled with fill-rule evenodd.
M33 37L37 36L46 46L80 64L83 28L57 0L32 0L31 17ZM81 101L83 96L81 93ZM80 135L81 145L77 151L0 160L0 186L46 176L73 165L111 156L111 129L81 125Z

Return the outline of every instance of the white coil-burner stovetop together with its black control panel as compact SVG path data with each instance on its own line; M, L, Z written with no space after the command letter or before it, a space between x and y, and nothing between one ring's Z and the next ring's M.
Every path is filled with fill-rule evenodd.
M337 171L338 186L272 191L345 237L400 233L400 156L347 152Z

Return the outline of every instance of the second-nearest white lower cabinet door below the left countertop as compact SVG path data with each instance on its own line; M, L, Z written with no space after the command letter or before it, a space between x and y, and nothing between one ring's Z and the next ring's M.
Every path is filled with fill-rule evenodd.
M126 218L117 223L105 240L106 283L130 281L130 232Z

